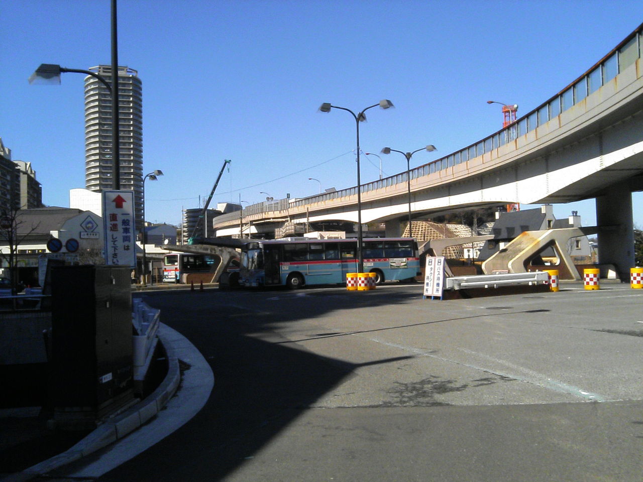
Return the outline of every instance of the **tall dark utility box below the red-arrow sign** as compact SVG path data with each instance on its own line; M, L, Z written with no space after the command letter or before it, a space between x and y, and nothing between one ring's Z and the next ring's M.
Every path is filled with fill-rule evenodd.
M62 428L91 428L133 398L129 267L51 272L50 406Z

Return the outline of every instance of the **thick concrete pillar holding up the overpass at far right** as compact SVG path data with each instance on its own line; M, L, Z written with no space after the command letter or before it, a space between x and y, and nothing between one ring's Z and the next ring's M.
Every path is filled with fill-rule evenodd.
M634 223L632 194L629 183L615 184L604 196L596 198L596 224L599 263L613 264L620 281L629 282L629 269L634 267Z

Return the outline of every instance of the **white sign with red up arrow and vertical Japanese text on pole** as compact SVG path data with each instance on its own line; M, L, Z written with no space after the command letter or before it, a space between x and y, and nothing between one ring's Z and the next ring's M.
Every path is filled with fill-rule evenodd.
M134 192L103 191L105 263L136 267Z

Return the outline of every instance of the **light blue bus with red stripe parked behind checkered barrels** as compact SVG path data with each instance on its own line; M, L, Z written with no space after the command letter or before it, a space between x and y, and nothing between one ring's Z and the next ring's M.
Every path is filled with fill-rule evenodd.
M364 271L376 283L412 280L421 274L413 238L365 238ZM241 250L239 284L244 287L346 283L358 271L356 239L286 238L249 242Z

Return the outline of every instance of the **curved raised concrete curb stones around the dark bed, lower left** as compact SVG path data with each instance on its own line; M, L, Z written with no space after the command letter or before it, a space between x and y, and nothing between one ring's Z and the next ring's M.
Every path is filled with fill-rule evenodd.
M127 434L132 433L141 425L147 423L152 417L165 407L168 400L176 393L176 389L181 382L181 372L179 370L179 359L176 356L174 348L168 339L159 332L159 341L163 344L167 353L168 372L163 382L145 399L141 400L136 406L125 411L121 415L107 420L92 433L87 435L83 440L71 447L68 451L54 456L48 460L37 463L22 472L10 474L0 482L23 482L38 476L44 476L53 470L60 469L74 461L92 454L111 443L120 440Z

